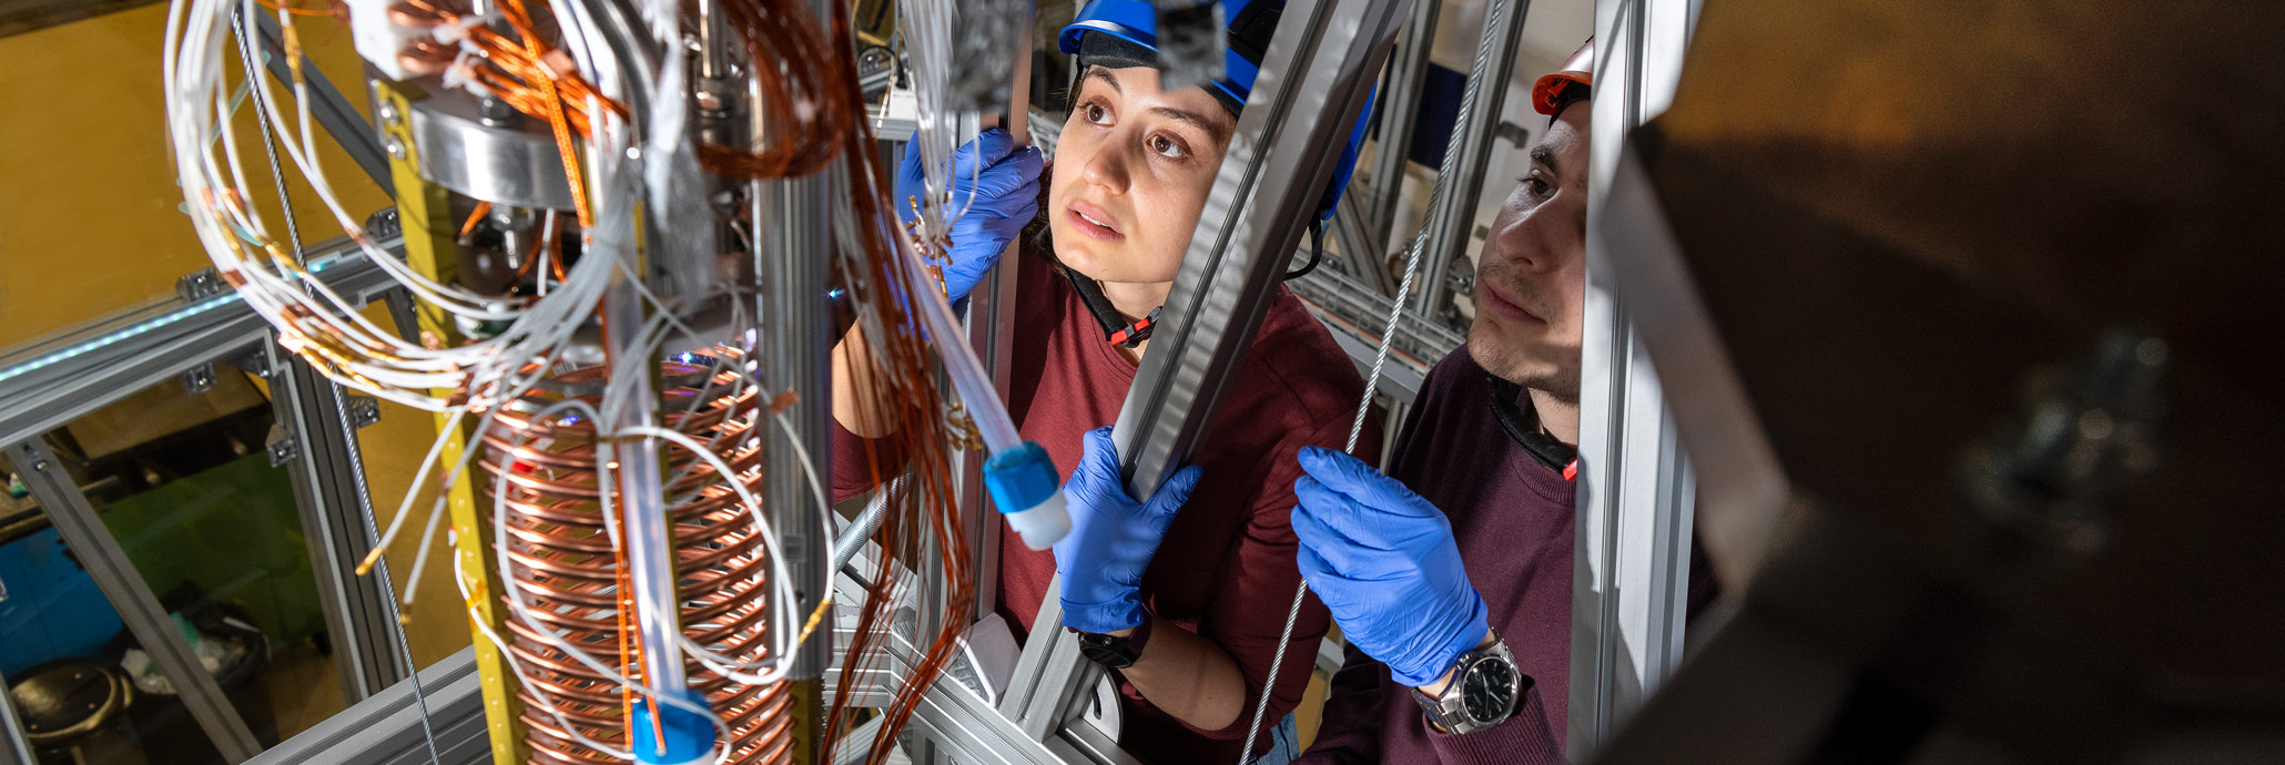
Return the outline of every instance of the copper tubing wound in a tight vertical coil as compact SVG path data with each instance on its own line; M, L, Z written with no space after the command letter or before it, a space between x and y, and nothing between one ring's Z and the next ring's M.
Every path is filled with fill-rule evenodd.
M713 354L729 363L740 361L736 349L713 349ZM731 480L745 482L747 491L759 496L763 434L747 422L756 422L763 397L749 386L738 386L738 375L708 377L708 370L711 365L663 363L667 384L660 393L660 420L699 443L711 443L715 454L738 470ZM603 368L555 375L553 388L539 386L503 406L482 432L480 464L489 473L487 498L507 505L505 528L494 539L507 555L507 571L500 571L503 587L514 589L530 605L535 621L587 660L635 676L640 660L633 617L622 614L622 607L631 607L622 601L622 555L603 528L594 422L562 413L535 418L567 397L599 404L599 395L576 390L594 388L601 379ZM665 473L683 635L740 662L765 658L763 541L754 534L729 482L695 454L670 445ZM487 505L484 516L489 514ZM644 701L546 642L523 619L510 617L503 639L521 667L519 722L530 763L617 763L571 733L626 749L628 703ZM686 669L690 687L706 694L731 728L729 763L781 763L791 756L793 699L784 683L743 685L697 660L686 660Z

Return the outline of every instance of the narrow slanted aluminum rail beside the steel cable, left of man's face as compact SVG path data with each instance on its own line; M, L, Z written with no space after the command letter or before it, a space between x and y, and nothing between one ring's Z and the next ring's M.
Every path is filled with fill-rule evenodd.
M1499 112L1508 96L1508 80L1515 75L1515 46L1524 37L1531 0L1494 2L1492 9L1492 16L1483 18L1483 48L1490 53L1478 62L1483 71L1467 78L1467 87L1476 94L1462 94L1462 98L1476 100L1476 110L1467 114L1467 121L1451 126L1453 146L1460 151L1458 164L1451 158L1444 160L1444 167L1460 171L1453 178L1437 178L1437 183L1446 183L1444 208L1428 210L1428 249L1421 251L1419 301L1412 304L1424 315L1437 315L1451 297L1451 290L1444 288L1444 267L1451 265L1451 258L1467 253L1467 242L1474 237L1485 164L1499 137Z

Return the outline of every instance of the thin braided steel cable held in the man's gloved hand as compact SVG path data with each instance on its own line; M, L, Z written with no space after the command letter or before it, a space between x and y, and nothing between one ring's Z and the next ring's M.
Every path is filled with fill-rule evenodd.
M1469 64L1467 87L1460 91L1460 112L1453 116L1453 126L1465 126L1469 116L1476 112L1476 94L1483 89L1483 71L1485 64L1492 59L1492 34L1497 30L1492 21L1499 18L1501 11L1506 11L1506 5L1508 0L1492 0L1490 9L1485 9L1483 14L1485 18L1483 37L1476 41L1476 59ZM1456 203L1444 192L1451 187L1451 178L1458 174L1456 164L1460 164L1458 158L1460 158L1462 132L1465 130L1453 128L1451 137L1444 144L1444 162L1440 162L1437 167L1435 185L1428 187L1428 222L1435 222L1437 215L1444 212L1444 208ZM1378 397L1376 393L1380 388L1380 370L1389 363L1389 343L1396 340L1396 322L1401 322L1405 315L1405 297L1410 297L1412 292L1412 276L1419 272L1421 249L1426 247L1428 247L1428 231L1421 228L1421 233L1412 235L1412 247L1408 247L1405 251L1405 276L1396 283L1396 304L1389 306L1389 322L1380 331L1380 347L1373 352L1373 368L1371 372L1364 375L1364 397L1357 402L1355 420L1348 422L1348 443L1341 445L1341 452L1355 452L1357 436L1364 434L1364 420L1366 416L1371 416L1373 400ZM1293 605L1286 607L1286 623L1284 630L1277 635L1277 653L1270 653L1270 674L1261 683L1261 701L1254 701L1254 719L1245 728L1245 749L1238 749L1238 765L1252 760L1254 740L1257 735L1261 735L1261 717L1268 715L1270 710L1270 694L1277 690L1277 671L1284 669L1286 646L1293 644L1293 623L1300 621L1300 605L1307 603L1307 598L1309 598L1309 580L1302 580L1300 587L1293 589Z

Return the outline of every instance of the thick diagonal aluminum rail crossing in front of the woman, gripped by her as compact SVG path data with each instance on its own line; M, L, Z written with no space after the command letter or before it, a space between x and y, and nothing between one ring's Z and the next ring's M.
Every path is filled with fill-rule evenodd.
M1410 0L1305 0L1284 9L1113 429L1129 493L1156 491L1213 420L1332 180L1339 153L1323 146L1339 146L1360 119L1408 9ZM1063 619L1060 589L1060 580L1049 587L1040 623ZM1079 655L1072 635L1035 635L1044 639L1024 646L1001 712L1044 740L1092 699L1101 669Z

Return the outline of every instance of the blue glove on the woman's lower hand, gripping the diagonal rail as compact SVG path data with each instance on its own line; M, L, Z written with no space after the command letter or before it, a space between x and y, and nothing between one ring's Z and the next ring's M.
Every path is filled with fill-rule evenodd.
M1063 502L1072 532L1056 543L1063 575L1063 626L1081 633L1113 633L1142 626L1142 569L1158 553L1174 512L1197 489L1197 466L1174 470L1149 502L1127 496L1120 450L1111 427L1088 432L1088 454L1079 457Z

